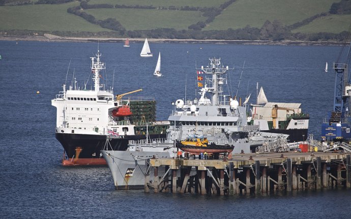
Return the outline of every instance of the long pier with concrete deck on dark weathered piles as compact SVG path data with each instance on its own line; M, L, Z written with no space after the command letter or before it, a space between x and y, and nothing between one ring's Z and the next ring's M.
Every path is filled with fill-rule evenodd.
M268 195L273 191L351 187L350 154L238 154L231 159L150 159L154 182L145 192ZM165 168L159 176L158 169ZM145 180L150 174L145 174ZM150 189L152 188L152 189Z

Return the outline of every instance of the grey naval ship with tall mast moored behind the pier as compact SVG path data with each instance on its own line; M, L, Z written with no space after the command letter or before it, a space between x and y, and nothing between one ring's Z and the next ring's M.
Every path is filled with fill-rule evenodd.
M189 135L203 136L210 144L229 145L233 148L232 154L250 153L252 143L256 147L258 142L275 141L278 136L287 138L288 135L259 132L259 125L247 124L245 107L223 92L228 90L224 86L228 84L225 74L229 68L224 68L220 59L211 58L209 61L208 66L195 71L200 98L172 102L173 112L168 117L170 126L166 139L129 141L127 151L101 151L116 189L143 188L144 174L149 167L147 160L153 156L174 157L176 141L185 140ZM254 138L257 141L251 141L251 137L257 134L259 138Z

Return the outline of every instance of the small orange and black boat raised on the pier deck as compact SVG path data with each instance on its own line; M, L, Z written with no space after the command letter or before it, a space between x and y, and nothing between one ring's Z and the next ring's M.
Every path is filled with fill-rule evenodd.
M231 153L234 149L234 146L229 144L218 145L213 142L209 143L207 138L202 136L189 136L184 141L176 141L176 147L190 154Z

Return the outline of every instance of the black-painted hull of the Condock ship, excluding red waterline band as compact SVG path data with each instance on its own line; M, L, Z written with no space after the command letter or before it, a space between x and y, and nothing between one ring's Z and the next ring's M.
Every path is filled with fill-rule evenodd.
M56 139L65 149L68 159L102 158L100 150L106 145L106 135L56 133ZM144 134L124 135L120 139L110 139L107 150L125 151L129 140L146 139ZM149 139L166 138L166 134L150 134Z

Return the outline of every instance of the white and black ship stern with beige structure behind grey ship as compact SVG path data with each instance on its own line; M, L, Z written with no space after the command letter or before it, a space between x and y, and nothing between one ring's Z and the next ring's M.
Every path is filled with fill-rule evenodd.
M251 104L248 124L259 125L261 132L288 134L290 143L302 142L308 136L309 115L300 106L301 103L268 102L261 87L256 104Z

